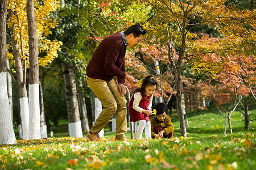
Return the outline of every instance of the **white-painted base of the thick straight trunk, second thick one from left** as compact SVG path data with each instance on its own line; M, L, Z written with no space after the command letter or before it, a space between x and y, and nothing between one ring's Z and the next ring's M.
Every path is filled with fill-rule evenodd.
M39 103L39 84L28 84L30 124L29 139L40 139L40 103Z

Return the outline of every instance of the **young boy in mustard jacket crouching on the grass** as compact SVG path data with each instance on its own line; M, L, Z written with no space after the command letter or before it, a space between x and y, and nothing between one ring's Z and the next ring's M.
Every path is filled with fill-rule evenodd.
M151 120L152 138L171 138L174 135L174 125L171 118L166 115L167 106L164 103L156 103L152 108L156 111L155 117Z

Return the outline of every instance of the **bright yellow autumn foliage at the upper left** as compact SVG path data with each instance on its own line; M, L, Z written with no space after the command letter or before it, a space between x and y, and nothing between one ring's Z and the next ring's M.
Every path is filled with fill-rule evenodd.
M7 20L7 26L13 30L11 35L15 37L16 43L19 45L20 58L28 61L29 48L28 48L28 24L26 14L26 2L24 0L10 0L8 1L9 19ZM57 52L62 45L61 41L48 40L47 36L50 35L51 29L55 28L57 21L51 19L49 16L51 12L55 11L59 7L59 1L56 0L43 0L35 1L35 16L36 16L36 33L38 37L38 61L40 66L46 66L51 63L54 58L58 56ZM13 14L13 15L10 15ZM20 36L22 39L20 39ZM23 44L24 56L21 52L21 41ZM7 45L7 57L13 58L11 44ZM13 61L13 60L11 60ZM15 65L15 62L11 62ZM27 62L29 67L29 62Z

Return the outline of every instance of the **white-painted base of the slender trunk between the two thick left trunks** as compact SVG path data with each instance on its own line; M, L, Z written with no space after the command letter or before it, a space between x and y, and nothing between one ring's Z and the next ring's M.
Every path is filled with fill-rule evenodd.
M28 128L29 128L29 119L30 119L30 109L28 107L28 97L19 98L20 105L20 117L22 120L22 136L23 139L28 139Z

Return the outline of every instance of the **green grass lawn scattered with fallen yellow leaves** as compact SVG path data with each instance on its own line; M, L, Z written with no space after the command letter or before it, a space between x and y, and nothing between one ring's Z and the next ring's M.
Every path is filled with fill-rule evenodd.
M67 136L67 121L61 121L58 128L52 129L53 138L1 145L0 169L255 169L255 121L250 122L250 130L243 130L244 122L235 112L233 134L227 127L224 135L220 114L200 111L188 117L185 139L180 137L174 113L174 138L131 140L128 132L127 141L113 141L115 133L105 133L101 142L61 137Z

